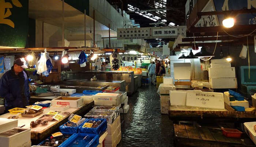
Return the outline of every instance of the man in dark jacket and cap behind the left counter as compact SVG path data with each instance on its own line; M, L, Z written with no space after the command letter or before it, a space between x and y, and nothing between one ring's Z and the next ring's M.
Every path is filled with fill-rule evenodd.
M5 112L29 105L29 82L24 68L28 68L25 59L16 59L12 69L0 79L0 96L5 99Z

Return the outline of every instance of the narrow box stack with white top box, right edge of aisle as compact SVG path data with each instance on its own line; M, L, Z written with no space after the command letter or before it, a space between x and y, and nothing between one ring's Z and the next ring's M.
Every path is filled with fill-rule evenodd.
M173 85L172 77L163 77L163 83L160 84L160 100L161 100L161 113L168 114L170 109L170 90L176 90Z

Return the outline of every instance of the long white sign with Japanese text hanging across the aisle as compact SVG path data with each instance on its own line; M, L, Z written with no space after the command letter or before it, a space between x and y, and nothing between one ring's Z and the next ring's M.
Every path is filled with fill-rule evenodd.
M117 39L177 38L186 36L187 26L141 27L117 29Z

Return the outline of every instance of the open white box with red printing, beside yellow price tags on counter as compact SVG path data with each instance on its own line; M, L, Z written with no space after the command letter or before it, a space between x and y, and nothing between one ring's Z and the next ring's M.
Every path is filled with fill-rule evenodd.
M78 108L83 105L83 98L57 97L52 99L52 106L55 105L69 105L70 108Z

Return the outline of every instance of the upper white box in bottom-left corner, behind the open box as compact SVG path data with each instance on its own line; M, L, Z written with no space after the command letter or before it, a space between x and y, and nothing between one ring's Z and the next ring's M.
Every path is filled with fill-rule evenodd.
M14 127L18 127L18 120L0 118L0 132L6 131Z

